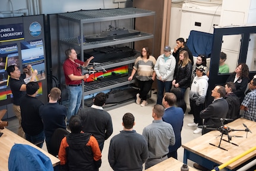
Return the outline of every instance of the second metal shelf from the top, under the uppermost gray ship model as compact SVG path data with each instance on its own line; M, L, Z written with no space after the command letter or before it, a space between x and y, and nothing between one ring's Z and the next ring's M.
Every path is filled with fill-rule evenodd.
M83 43L83 46L78 44L77 37L69 37L69 38L59 39L59 42L64 43L66 45L78 46L78 47L82 48L83 50L87 50L87 49L93 49L93 48L97 48L97 47L113 46L113 45L119 45L122 43L130 43L130 42L135 42L135 41L139 41L139 40L152 39L153 37L154 37L153 34L141 32L141 34L138 34L135 36L127 36L127 37L122 37L122 38L115 39L115 40L102 40L102 41L97 41L97 42L86 42L86 43Z

